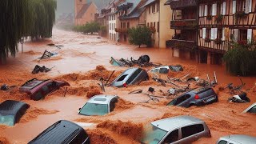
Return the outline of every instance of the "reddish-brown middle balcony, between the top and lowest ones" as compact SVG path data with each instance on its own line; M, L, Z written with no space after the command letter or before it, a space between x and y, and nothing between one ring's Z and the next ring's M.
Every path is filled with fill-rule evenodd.
M196 19L180 19L170 21L171 29L179 29L179 30L194 30L198 27L198 22Z

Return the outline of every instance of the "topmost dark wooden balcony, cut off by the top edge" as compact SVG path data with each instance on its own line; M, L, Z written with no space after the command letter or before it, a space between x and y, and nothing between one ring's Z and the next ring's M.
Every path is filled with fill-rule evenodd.
M175 10L186 8L189 6L197 6L197 0L170 0L168 4L170 4L170 8L172 10Z

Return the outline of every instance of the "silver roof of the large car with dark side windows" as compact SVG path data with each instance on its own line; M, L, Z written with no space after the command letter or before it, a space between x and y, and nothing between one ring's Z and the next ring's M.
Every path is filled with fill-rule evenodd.
M152 125L166 131L173 130L180 126L186 126L194 123L202 123L203 121L198 118L194 118L188 115L182 115L172 118L160 119L158 121L151 122Z

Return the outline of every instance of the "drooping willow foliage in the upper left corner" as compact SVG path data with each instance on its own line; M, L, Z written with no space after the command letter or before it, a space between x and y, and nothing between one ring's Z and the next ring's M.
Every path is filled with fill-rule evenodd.
M22 37L50 38L55 0L0 0L0 63L18 52Z

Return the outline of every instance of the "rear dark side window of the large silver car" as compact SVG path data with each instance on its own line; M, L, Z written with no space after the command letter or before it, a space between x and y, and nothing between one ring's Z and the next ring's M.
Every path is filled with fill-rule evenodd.
M204 127L202 124L182 127L182 138L189 137L190 135L193 135L193 134L198 134L203 130L204 130Z

